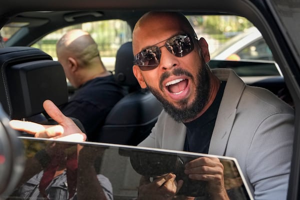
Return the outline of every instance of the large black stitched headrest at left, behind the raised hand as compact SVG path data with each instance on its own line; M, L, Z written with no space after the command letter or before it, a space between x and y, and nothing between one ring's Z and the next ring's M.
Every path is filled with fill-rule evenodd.
M12 119L43 112L42 102L67 102L67 84L59 62L33 47L0 48L0 102Z

